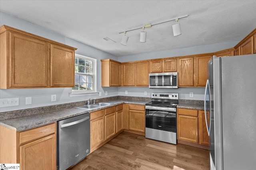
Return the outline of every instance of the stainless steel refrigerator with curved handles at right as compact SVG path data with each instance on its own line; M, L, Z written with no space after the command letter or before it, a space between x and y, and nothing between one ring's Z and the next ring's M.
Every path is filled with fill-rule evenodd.
M204 106L211 169L255 169L256 54L212 57Z

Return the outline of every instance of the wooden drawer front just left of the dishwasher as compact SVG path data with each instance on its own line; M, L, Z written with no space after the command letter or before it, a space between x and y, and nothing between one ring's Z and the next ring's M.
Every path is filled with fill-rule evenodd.
M20 132L20 145L55 133L55 123Z

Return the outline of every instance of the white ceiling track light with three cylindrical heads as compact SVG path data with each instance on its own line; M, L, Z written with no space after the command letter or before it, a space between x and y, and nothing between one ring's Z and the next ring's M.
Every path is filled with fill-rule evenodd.
M178 19L185 18L185 17L188 17L188 15L179 16L179 17L176 17L176 18L172 18L170 20L160 21L160 22L156 22L156 23L148 23L148 24L145 24L145 25L143 25L141 27L135 27L135 28L127 29L125 31L120 31L118 33L124 33L124 35L122 37L121 44L122 45L127 45L127 41L128 41L129 37L126 36L126 32L133 31L133 30L136 30L136 29L141 29L141 28L142 28L143 31L140 32L140 42L145 43L146 42L146 38L147 38L147 32L144 31L145 28L150 28L153 25L157 25L157 24L160 24L160 23L165 23L165 22L173 21L173 20L176 21L176 24L172 25L173 35L174 36L180 35L181 34L181 30L180 30L180 23L178 23Z

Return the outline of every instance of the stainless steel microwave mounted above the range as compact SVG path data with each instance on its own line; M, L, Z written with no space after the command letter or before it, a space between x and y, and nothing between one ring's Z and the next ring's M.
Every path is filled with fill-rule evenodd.
M149 74L149 88L178 88L178 72Z

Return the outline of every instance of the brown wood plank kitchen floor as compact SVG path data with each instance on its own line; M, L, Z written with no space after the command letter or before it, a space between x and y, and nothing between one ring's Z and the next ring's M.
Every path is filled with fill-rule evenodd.
M122 132L70 170L209 170L209 151Z

